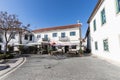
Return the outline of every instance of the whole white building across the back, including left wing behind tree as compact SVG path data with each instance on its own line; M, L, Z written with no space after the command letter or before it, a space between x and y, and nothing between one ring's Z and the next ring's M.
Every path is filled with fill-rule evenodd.
M24 32L22 35L22 45L54 45L54 46L64 46L65 49L70 47L79 50L80 49L80 27L81 24L73 24L66 26L57 26L50 28L43 28L33 30L32 33ZM7 36L10 34L8 33ZM15 46L19 44L19 34L18 32L13 34L9 45ZM0 50L4 50L5 37L3 33L0 33ZM14 49L16 49L14 47Z

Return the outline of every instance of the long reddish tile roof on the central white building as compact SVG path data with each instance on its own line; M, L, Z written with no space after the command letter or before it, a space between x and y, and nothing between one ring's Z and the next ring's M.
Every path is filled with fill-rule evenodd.
M39 32L52 31L52 30L76 28L76 27L80 27L80 26L81 26L81 24L72 24L72 25L66 25L66 26L57 26L57 27L36 29L36 30L33 30L32 32L39 33Z

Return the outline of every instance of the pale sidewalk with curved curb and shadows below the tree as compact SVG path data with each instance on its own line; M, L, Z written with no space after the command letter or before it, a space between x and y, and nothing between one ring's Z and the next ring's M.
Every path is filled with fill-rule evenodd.
M9 59L7 62L0 64L0 79L10 74L26 61L25 57Z

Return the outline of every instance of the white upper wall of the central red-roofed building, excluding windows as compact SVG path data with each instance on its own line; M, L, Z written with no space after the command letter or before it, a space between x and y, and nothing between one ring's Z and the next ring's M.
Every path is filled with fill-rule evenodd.
M70 36L70 32L76 32L76 36ZM48 35L48 38L50 41L59 41L59 37L61 37L61 33L65 32L65 36L67 36L70 39L70 43L76 43L77 49L79 48L79 27L77 28L69 28L69 29L60 29L60 30L52 30L52 31L46 31L41 33L35 33L35 42L42 42L42 38L44 38L44 35ZM52 34L57 33L57 37L53 37ZM41 38L37 38L37 35L41 35Z

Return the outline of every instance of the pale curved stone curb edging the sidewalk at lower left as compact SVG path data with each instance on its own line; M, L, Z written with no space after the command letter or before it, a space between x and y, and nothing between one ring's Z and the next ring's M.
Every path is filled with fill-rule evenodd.
M15 63L14 66L12 66L13 64L11 64L10 66L12 66L11 68L8 68L6 70L4 70L1 74L0 74L0 80L3 79L5 76L9 75L10 73L14 72L17 68L19 68L21 65L23 65L26 61L26 58L23 57L22 60L18 63Z

